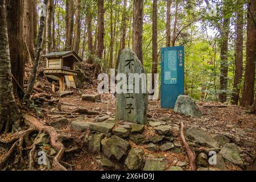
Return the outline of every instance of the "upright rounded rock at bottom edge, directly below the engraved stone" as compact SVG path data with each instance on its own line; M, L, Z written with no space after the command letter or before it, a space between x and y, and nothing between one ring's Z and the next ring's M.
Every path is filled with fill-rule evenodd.
M144 152L139 148L131 149L125 160L125 165L127 168L133 171L141 170L143 164L143 154Z

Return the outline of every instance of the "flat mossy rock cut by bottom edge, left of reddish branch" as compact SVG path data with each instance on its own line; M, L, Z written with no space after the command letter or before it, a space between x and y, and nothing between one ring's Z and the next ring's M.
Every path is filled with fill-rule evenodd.
M166 159L147 159L143 171L164 171L167 163Z

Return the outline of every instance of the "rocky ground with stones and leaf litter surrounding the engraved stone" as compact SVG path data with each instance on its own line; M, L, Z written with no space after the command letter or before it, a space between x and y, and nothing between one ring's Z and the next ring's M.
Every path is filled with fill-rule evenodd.
M87 94L96 93L94 88ZM161 109L150 101L148 124L115 121L115 97L83 101L81 92L60 98L59 108L46 106L43 122L56 128L65 145L64 162L72 170L190 170L180 138L183 122L188 144L196 151L198 170L249 170L255 155L256 116L242 107L198 102L201 118ZM77 110L86 108L90 111ZM71 113L77 110L77 113ZM205 150L198 150L204 147ZM216 151L217 165L208 163ZM54 150L48 148L48 152ZM51 155L49 153L49 155ZM43 168L47 169L47 167Z

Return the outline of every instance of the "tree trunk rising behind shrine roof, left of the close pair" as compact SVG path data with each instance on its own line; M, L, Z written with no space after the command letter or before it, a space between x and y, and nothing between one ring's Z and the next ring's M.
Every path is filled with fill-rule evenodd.
M66 1L66 42L65 51L71 51L73 38L73 22L74 22L74 0Z

